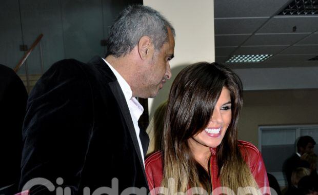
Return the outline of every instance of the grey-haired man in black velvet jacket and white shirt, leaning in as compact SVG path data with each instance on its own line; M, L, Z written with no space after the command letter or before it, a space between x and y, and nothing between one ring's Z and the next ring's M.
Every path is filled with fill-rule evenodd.
M20 189L38 184L31 194L48 193L48 187L71 194L146 193L149 138L138 127L143 108L135 97L156 96L171 78L173 51L171 24L134 5L111 27L106 59L55 63L28 100ZM39 177L46 180L30 182Z

